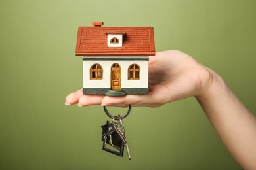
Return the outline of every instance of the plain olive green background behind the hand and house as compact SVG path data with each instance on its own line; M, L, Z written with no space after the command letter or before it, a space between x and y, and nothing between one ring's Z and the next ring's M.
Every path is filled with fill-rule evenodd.
M101 106L65 106L82 87L77 27L152 26L256 111L256 1L0 1L0 169L241 169L196 99L136 107L123 120L132 160L102 151ZM127 109L110 108L125 113Z

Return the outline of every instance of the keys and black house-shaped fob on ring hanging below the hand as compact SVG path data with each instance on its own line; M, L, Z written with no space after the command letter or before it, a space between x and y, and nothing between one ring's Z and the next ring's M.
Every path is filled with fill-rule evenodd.
M131 111L131 105L129 105L129 110L127 114L123 117L120 115L112 116L106 107L104 106L106 114L112 118L112 123L109 121L105 125L102 125L102 149L116 154L117 156L123 156L123 150L126 147L129 160L131 160L131 154L127 144L127 139L125 137L125 127L123 126L123 118L126 118Z

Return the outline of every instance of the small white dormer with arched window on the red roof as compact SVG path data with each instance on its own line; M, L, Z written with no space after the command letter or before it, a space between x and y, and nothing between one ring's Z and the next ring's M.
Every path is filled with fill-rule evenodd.
M125 35L125 33L106 33L106 35L108 35L108 47L123 46L123 35Z

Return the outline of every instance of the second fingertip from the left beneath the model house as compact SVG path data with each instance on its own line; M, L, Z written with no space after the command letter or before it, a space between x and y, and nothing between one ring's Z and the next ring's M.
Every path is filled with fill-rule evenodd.
M79 106L100 105L105 95L83 95L80 97Z

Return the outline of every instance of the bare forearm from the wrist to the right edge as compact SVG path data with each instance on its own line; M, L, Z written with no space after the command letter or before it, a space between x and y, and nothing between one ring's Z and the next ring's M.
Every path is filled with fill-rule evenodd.
M213 75L209 89L196 99L234 159L244 169L256 169L256 117Z

